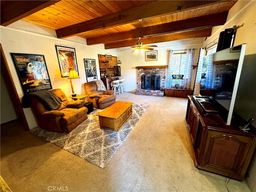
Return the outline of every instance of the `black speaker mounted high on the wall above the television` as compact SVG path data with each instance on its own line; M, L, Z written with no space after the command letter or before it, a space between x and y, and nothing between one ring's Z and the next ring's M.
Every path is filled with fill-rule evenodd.
M220 32L220 37L218 40L218 46L216 51L221 51L227 48L230 48L233 35L235 34L235 30L233 28L225 29L225 31Z

